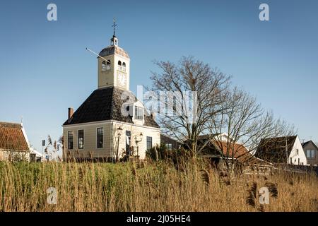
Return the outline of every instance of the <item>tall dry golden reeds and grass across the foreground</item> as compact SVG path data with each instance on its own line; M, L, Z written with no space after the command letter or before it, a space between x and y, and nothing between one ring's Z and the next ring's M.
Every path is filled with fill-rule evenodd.
M259 203L263 186L269 205ZM182 170L167 162L0 162L0 211L318 211L317 186L310 174L230 180L200 162ZM56 205L47 203L49 187Z

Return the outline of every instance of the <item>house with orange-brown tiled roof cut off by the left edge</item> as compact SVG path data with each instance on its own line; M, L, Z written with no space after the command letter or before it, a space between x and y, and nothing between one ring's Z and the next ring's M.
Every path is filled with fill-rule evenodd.
M30 145L23 124L0 122L0 160L30 160Z

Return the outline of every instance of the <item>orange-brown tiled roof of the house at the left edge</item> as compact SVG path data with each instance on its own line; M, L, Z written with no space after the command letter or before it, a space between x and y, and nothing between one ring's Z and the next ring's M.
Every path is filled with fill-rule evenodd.
M29 150L21 124L0 122L0 149Z

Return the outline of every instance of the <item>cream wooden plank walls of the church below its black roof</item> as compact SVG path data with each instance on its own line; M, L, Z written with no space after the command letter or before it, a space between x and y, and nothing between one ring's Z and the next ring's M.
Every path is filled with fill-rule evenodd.
M103 128L102 148L97 146L97 129ZM78 147L78 130L84 132L83 148ZM73 148L69 148L68 133L73 131ZM130 132L130 142L127 143L126 131ZM141 135L142 134L142 135ZM140 159L145 159L147 150L147 137L151 138L152 146L160 144L160 129L129 124L122 121L95 121L85 124L66 125L63 128L64 135L64 158L116 158L119 159L126 152L126 144L138 147ZM136 142L137 141L137 142Z

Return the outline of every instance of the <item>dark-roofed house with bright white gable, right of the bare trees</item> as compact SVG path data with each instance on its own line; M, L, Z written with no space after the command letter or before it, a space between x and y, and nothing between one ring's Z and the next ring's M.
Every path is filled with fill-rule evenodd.
M307 165L307 158L298 136L261 139L255 156L273 163Z

